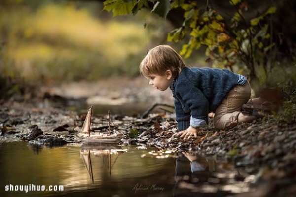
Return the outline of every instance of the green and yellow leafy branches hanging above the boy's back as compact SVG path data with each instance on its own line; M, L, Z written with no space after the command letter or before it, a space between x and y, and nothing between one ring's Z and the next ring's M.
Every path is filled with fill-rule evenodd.
M266 85L268 72L275 66L278 52L272 35L272 15L277 7L273 4L263 9L252 8L254 11L248 2L250 0L229 0L227 9L223 10L215 8L210 0L207 0L205 8L200 1L107 0L104 9L112 10L116 16L137 14L140 9L149 8L151 13L163 18L174 9L182 9L183 24L167 36L167 40L173 42L189 38L181 55L188 58L194 50L205 46L207 61L213 61L214 66L231 70L239 66L241 71L246 66L251 78L257 78L260 85ZM123 6L119 8L118 4L126 4L128 9L122 11Z

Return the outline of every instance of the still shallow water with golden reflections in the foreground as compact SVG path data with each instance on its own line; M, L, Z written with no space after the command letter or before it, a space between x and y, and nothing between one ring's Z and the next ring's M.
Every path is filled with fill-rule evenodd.
M250 190L226 163L141 148L2 143L0 197L220 197Z

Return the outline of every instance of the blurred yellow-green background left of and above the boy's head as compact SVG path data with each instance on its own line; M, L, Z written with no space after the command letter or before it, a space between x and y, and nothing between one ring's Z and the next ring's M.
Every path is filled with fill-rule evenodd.
M1 0L1 75L45 84L138 76L147 49L173 27L149 12L102 9L97 1Z

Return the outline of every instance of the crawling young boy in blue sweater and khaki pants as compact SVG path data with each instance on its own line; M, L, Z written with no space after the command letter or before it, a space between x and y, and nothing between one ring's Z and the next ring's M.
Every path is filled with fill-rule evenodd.
M168 87L172 90L180 131L176 135L183 139L197 136L198 128L208 124L210 112L215 113L214 127L218 129L262 115L240 112L251 96L246 77L226 69L186 67L182 57L168 45L151 49L140 64L140 72L149 79L149 85L160 91Z

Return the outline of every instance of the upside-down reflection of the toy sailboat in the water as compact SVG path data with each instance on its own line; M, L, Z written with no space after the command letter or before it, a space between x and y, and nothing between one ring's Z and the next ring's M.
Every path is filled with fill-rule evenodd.
M111 168L115 164L117 157L120 153L126 152L127 149L121 149L117 145L95 145L95 144L83 144L80 148L80 156L83 160L83 163L87 169L87 172L90 176L90 179L94 183L94 176L93 176L93 168L92 168L92 161L91 161L91 154L98 156L103 155L103 158L108 158L108 169L109 169L109 176L111 176ZM116 158L111 165L111 154L116 154ZM104 160L103 160L104 164Z

